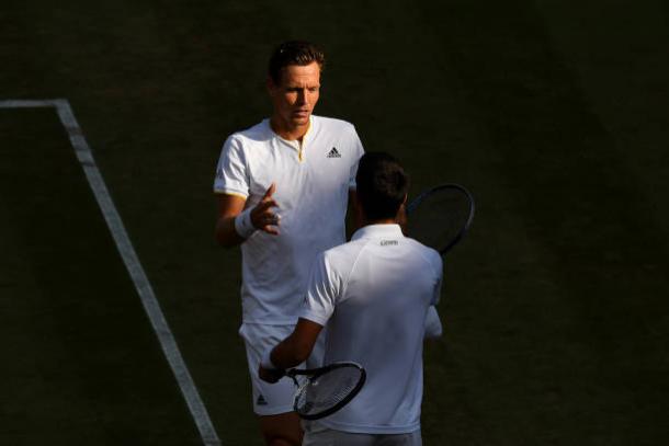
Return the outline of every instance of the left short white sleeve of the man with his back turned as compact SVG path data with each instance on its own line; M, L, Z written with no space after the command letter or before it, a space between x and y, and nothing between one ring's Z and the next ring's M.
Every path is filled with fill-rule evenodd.
M334 311L341 289L340 284L341 281L328 267L326 256L321 253L311 268L309 286L299 317L325 325Z

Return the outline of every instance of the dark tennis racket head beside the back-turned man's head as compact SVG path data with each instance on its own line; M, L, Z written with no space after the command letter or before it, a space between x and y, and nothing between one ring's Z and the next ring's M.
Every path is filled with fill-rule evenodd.
M474 207L474 197L460 184L432 187L407 206L409 237L444 255L467 233Z

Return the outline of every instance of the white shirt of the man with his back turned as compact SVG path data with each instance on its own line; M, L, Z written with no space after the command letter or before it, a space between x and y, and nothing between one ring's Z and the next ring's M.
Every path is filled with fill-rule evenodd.
M441 278L439 253L397 225L366 226L318 258L299 317L327 323L324 364L353 361L367 373L360 393L320 423L367 434L420 428L423 324Z

